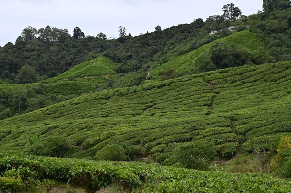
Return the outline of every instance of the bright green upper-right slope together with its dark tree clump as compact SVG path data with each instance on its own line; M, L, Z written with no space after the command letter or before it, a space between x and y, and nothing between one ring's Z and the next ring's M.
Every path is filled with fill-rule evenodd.
M218 45L219 43L225 44ZM214 50L214 48L218 49L219 46L222 46L223 50L217 50L218 53L215 53L216 50ZM228 47L232 48L230 49ZM187 74L189 72L206 72L207 66L212 62L215 63L214 70L216 70L216 68L241 66L247 61L254 61L254 58L258 57L258 55L254 55L252 53L256 53L258 50L264 51L264 53L267 52L263 42L257 39L256 34L245 30L228 37L215 40L210 44L203 45L188 54L172 59L171 61L155 68L151 74L161 74L161 72L165 72L170 69L175 69L175 71L179 74ZM231 54L232 51L233 53ZM229 59L229 55L233 56L230 56L231 58ZM206 59L201 61L201 57L203 56L205 56ZM212 56L212 59L210 56ZM228 59L228 61L225 62L226 66L221 66L221 62L217 61L220 58L221 62L223 62L224 59ZM210 61L206 61L204 64L204 61L207 59Z

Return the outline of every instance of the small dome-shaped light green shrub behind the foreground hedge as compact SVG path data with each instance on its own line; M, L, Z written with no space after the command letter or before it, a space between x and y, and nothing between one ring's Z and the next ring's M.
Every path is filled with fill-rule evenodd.
M110 160L110 161L126 160L125 149L122 146L118 145L109 145L102 148L97 152L96 157L99 160Z

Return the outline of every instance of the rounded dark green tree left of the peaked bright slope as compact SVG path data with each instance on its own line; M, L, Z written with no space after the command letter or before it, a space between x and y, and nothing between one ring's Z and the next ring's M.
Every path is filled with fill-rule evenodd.
M16 82L20 84L28 84L38 81L39 77L35 68L30 65L23 65L16 75Z

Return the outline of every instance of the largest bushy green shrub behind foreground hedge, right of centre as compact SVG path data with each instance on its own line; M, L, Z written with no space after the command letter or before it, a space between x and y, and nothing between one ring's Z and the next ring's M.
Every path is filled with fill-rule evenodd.
M174 149L172 156L165 161L169 165L181 165L186 168L208 169L209 162L215 158L214 144L194 141Z

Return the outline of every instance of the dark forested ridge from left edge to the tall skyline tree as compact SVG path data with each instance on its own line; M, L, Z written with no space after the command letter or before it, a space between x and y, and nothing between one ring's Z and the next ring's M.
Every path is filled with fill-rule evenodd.
M100 55L113 59L117 73L145 72L155 64L220 38L219 35L209 36L209 31L229 27L241 16L241 11L233 4L225 5L223 11L223 15L210 16L206 21L199 18L190 24L165 30L157 26L154 32L136 37L120 26L117 39L108 39L102 32L95 37L85 36L78 27L73 30L73 35L66 29L49 26L38 30L27 27L15 44L0 47L0 78L10 83L31 83L64 73L76 64ZM25 69L21 69L25 65ZM33 79L18 75L27 70L33 74Z

